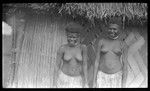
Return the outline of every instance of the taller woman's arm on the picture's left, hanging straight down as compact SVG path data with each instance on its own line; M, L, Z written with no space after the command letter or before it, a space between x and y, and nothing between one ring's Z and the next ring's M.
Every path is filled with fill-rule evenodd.
M96 60L95 60L95 65L94 65L94 77L93 77L94 87L96 86L96 76L97 76L97 71L98 71L98 66L99 66L101 46L102 46L102 40L100 40L98 43L98 50L97 50Z

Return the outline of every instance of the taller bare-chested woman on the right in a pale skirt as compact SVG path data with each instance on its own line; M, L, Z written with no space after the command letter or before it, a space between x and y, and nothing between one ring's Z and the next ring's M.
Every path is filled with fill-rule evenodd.
M107 38L99 40L94 68L93 86L97 88L124 87L127 78L127 63L124 42L119 39L120 26L110 24Z

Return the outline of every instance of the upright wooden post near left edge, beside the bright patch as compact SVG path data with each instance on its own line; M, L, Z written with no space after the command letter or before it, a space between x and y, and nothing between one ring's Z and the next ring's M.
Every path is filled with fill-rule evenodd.
M12 17L12 27L13 27L13 33L12 33L12 58L11 58L11 72L10 72L10 84L11 86L17 86L17 67L18 67L18 61L20 60L20 54L21 54L21 47L24 39L24 25L25 21L23 19L18 19L16 17L16 14Z

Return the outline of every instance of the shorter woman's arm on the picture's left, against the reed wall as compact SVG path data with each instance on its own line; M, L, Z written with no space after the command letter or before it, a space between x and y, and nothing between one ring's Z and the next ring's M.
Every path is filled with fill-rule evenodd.
M56 57L56 64L54 67L54 79L53 79L53 86L56 86L57 78L58 78L58 71L61 68L62 64L62 56L63 56L64 47L61 46L59 50L57 51L57 57Z

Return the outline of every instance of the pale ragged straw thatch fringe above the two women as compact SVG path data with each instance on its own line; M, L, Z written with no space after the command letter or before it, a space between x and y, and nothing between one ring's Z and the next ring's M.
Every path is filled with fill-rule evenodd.
M125 15L128 18L147 17L146 3L66 3L61 8L70 14L85 14L90 19L115 15Z

